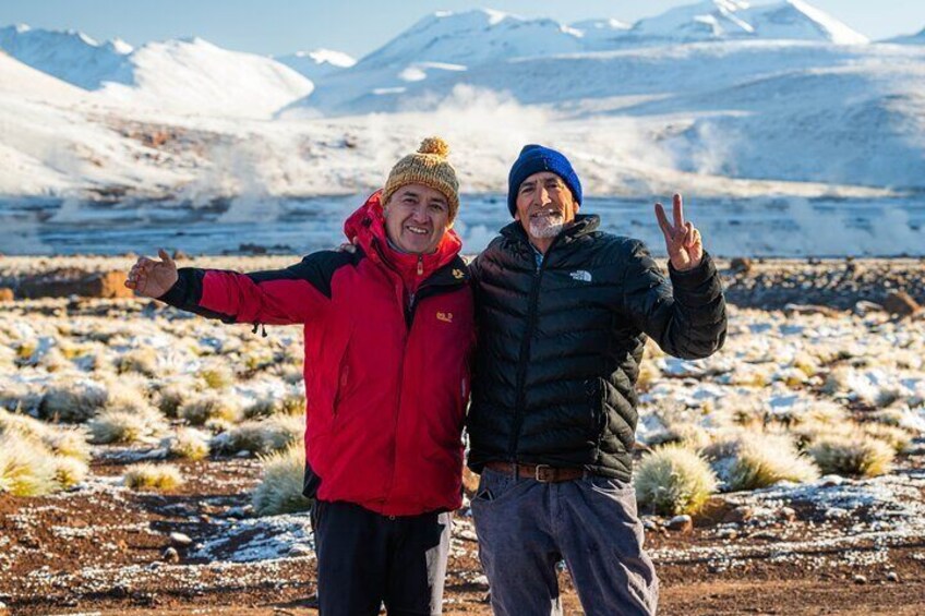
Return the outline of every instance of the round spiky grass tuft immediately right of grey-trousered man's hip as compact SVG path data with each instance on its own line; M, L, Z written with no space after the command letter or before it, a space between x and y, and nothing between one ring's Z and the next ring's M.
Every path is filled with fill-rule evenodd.
M642 458L635 485L641 507L662 516L694 515L716 492L717 478L695 451L666 445Z

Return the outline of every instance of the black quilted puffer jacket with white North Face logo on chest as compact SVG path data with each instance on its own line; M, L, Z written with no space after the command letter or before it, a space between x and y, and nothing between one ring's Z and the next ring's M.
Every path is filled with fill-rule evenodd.
M669 285L642 242L598 231L599 224L577 217L537 269L513 222L472 263L473 471L518 461L629 481L646 335L678 358L722 347L725 302L710 256L690 271L670 268Z

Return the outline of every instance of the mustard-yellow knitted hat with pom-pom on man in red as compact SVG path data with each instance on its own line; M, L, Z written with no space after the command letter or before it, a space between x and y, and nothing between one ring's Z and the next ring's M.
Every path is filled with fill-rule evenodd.
M423 184L446 196L449 206L449 221L456 219L459 210L459 182L456 169L446 159L449 146L440 137L428 137L415 154L409 154L395 164L388 173L388 180L382 189L382 203L388 203L395 191L408 184Z

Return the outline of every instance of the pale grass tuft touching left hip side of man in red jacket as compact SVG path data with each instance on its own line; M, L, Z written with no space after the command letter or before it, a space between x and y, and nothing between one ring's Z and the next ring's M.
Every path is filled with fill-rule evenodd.
M302 496L302 480L305 472L305 449L293 445L262 458L264 476L252 496L254 512L259 516L276 516L305 511L311 500Z

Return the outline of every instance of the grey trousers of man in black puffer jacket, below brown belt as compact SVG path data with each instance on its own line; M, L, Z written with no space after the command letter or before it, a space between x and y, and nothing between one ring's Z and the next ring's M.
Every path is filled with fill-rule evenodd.
M561 615L563 559L587 616L656 614L659 580L630 484L596 475L540 483L484 469L472 516L496 616Z

